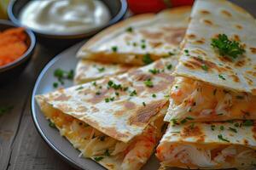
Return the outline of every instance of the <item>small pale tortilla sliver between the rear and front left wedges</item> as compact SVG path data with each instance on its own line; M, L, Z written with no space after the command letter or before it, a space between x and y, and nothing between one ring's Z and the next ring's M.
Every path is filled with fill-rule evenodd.
M74 82L82 84L92 82L103 77L111 77L125 73L137 66L102 63L89 59L80 59L76 67Z

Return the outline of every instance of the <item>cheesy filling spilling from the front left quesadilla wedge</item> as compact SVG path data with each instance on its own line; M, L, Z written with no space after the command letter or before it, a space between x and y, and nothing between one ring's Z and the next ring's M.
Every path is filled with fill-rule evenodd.
M154 125L148 125L142 135L129 143L123 143L72 116L55 110L44 102L41 109L44 115L55 123L61 135L79 149L83 156L95 160L102 157L102 165L108 169L139 169L151 156L154 146L160 139L162 116L155 119ZM112 164L105 163L105 160L119 162L119 165L113 167Z

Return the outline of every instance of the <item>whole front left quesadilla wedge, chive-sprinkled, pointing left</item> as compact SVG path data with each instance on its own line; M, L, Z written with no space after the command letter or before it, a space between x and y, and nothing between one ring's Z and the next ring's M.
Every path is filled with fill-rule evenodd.
M176 58L36 96L44 115L83 156L108 169L139 169L163 133Z

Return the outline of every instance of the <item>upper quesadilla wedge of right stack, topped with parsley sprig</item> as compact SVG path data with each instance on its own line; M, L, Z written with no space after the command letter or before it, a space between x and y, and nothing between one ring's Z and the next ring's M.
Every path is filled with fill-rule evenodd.
M166 121L256 119L255 26L228 1L195 3Z

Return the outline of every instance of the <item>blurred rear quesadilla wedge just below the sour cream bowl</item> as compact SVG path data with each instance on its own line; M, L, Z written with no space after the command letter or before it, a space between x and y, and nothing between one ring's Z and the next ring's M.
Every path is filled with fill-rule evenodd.
M167 9L160 14L141 14L97 34L77 56L105 63L146 65L178 53L189 22L190 7ZM147 54L148 60L145 60Z

